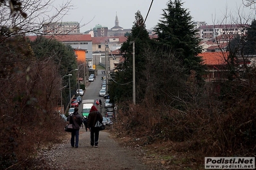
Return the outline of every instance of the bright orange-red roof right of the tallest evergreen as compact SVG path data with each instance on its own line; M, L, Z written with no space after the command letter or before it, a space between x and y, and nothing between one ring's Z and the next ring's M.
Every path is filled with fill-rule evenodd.
M226 65L228 52L203 52L198 56L203 58L205 65Z

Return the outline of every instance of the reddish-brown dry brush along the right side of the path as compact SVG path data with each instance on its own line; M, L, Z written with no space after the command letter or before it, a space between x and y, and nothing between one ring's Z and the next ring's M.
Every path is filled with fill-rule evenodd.
M115 132L119 137L143 139L142 145L174 142L172 150L192 151L201 158L254 157L256 85L254 81L232 82L229 90L225 98L209 97L204 107L188 107L187 111L164 104L119 104Z

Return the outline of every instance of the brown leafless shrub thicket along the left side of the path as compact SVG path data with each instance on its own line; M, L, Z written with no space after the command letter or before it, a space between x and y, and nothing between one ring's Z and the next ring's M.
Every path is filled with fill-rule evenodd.
M59 78L48 62L17 61L17 72L1 83L0 169L30 169L37 150L60 141L65 133L64 121L52 110Z

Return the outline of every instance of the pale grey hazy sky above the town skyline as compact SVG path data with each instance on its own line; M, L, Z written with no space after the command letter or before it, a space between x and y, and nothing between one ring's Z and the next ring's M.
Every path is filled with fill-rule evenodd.
M62 4L67 0L55 0L55 4ZM87 31L101 24L108 29L115 26L115 15L119 19L119 26L131 28L135 20L137 10L141 11L142 16L146 19L146 28L150 29L157 25L161 17L162 9L166 8L169 0L155 0L148 13L151 0L71 0L74 9L69 10L63 18L63 22L76 21L80 22L80 32ZM243 8L243 0L183 0L183 8L189 10L193 21L205 21L207 24L213 24L212 19L223 19L224 13L232 13L237 17L238 8L243 15L255 14L250 8ZM254 16L253 16L254 17ZM90 22L90 20L92 20Z

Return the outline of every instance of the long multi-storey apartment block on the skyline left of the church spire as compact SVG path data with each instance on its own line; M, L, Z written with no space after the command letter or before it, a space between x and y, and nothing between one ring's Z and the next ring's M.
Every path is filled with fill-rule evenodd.
M45 22L43 24L45 35L67 35L80 33L79 22Z

